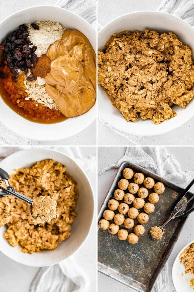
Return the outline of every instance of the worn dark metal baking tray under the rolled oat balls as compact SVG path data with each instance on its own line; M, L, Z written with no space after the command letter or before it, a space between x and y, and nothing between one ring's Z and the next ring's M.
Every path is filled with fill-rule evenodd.
M114 191L118 188L118 181L123 178L124 168L131 168L135 172L142 172L145 177L152 177L155 182L161 181L165 185L165 191L159 195L160 199L155 204L155 210L149 215L149 221L144 224L145 233L139 236L137 244L129 244L127 240L120 241L117 235L112 235L108 230L98 229L98 271L141 292L151 291L156 279L167 261L175 242L184 226L186 218L171 220L165 227L161 240L153 240L150 236L150 228L162 225L169 217L171 206L181 194L181 187L162 179L154 173L146 171L137 165L124 161L112 182L98 214L98 221L103 218L103 212L108 209L107 203L113 198ZM133 180L129 180L132 182ZM140 185L139 187L141 187ZM148 190L149 194L154 190ZM125 193L128 191L126 190ZM187 193L187 197L193 195ZM148 201L148 197L145 199ZM120 203L123 201L120 201ZM192 206L190 202L188 208ZM115 211L117 213L117 211ZM127 214L125 215L127 217ZM135 225L138 223L135 220ZM113 220L110 221L112 223ZM123 225L120 226L124 228ZM133 229L132 229L133 230ZM129 232L133 232L128 230Z

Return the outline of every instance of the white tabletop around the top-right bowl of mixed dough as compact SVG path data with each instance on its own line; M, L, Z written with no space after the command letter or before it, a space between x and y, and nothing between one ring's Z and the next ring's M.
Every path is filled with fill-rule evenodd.
M161 0L98 0L98 23L101 27L120 15L141 10L156 10ZM192 127L194 118L183 126L160 136L143 138L142 145L193 145ZM117 135L98 120L98 145L130 145L129 140Z

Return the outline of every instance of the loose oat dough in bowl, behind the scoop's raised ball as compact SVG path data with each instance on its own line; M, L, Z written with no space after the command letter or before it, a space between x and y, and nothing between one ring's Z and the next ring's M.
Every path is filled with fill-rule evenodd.
M64 165L51 159L17 169L10 175L10 184L32 199L49 195L57 202L56 218L39 224L28 204L13 196L0 199L0 227L6 225L4 238L13 247L20 245L24 253L53 250L70 236L79 193L78 183Z

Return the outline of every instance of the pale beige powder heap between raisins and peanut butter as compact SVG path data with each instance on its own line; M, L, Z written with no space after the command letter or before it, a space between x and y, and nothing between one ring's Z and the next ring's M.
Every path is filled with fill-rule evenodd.
M32 26L27 24L29 31L29 39L33 45L37 46L35 54L37 57L46 54L48 47L55 41L61 40L64 30L59 22L48 21L36 21L34 22L39 26L39 30L34 30Z

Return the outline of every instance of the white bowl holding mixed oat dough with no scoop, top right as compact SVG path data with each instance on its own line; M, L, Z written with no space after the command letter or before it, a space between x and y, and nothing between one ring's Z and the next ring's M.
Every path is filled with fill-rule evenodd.
M103 48L106 41L114 33L119 33L122 30L142 31L145 29L156 30L159 33L173 32L183 44L189 45L194 51L194 30L192 26L171 14L154 11L132 12L109 22L98 33L98 50ZM171 131L186 123L194 116L193 106L194 100L185 109L177 105L173 106L173 109L177 112L177 116L159 125L155 125L151 120L142 120L141 118L135 123L131 121L127 122L119 110L111 104L105 91L98 85L99 116L112 127L128 134L153 136Z

